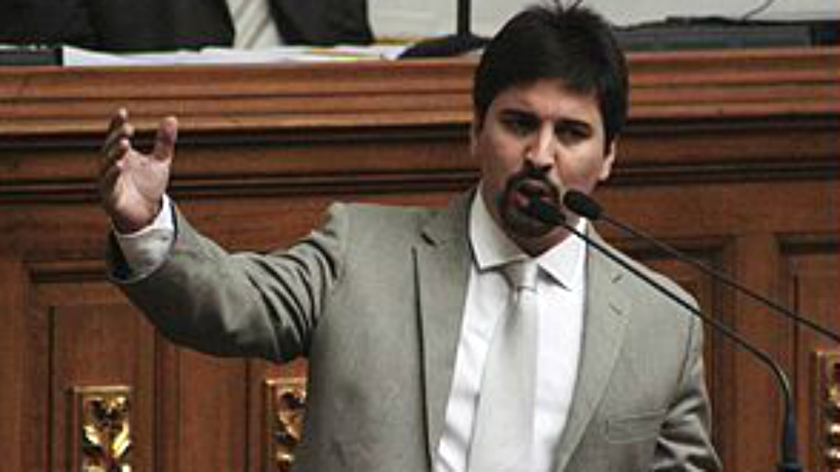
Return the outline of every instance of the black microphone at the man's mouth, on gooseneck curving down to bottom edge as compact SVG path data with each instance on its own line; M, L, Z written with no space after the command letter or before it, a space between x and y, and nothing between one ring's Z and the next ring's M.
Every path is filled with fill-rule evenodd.
M567 191L565 194L568 195L570 192L571 191ZM566 198L564 197L564 202L565 200ZM605 245L597 242L595 239L591 239L585 233L578 231L577 228L566 222L566 218L563 213L557 208L543 202L538 197L534 197L529 200L528 212L533 215L534 218L538 218L543 223L560 226L570 233L575 234L575 236L582 239L591 248L594 248L601 254L604 254L609 260L612 260L617 265L622 266L623 269L637 276L639 279L647 283L648 286L652 286L654 289L659 291L659 293L668 297L671 301L680 305L680 307L685 308L685 310L690 312L692 315L699 317L703 320L703 323L715 328L719 333L724 334L735 344L738 344L738 346L746 349L750 354L753 354L757 359L763 362L769 370L773 372L779 383L785 407L782 423L781 460L776 469L778 472L801 472L802 466L799 463L799 459L797 459L796 453L796 417L793 395L790 393L790 380L788 380L787 375L785 375L785 371L782 370L780 365L777 364L773 358L769 356L769 354L755 347L746 338L735 332L726 324L719 322L714 317L707 316L697 307L694 307L689 302L685 302L684 299L677 296L673 291L670 291L658 281L655 281L654 278L645 274L641 270L638 270L636 267L633 267L633 265L629 264L626 260L623 260L617 253L613 252L612 249L608 249Z

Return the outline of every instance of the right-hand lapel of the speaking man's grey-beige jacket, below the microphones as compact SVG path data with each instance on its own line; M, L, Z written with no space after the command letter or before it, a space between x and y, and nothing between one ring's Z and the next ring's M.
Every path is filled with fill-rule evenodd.
M591 237L602 243L590 232ZM586 257L586 297L580 367L569 418L557 449L557 468L563 470L606 390L622 348L631 301L620 290L622 272L595 249Z

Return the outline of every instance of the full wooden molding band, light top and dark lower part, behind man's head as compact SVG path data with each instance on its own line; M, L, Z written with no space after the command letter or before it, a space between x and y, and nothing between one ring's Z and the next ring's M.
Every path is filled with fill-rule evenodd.
M181 119L193 197L458 191L474 60L0 71L0 203L92 202L108 116ZM630 55L613 183L840 176L840 48Z

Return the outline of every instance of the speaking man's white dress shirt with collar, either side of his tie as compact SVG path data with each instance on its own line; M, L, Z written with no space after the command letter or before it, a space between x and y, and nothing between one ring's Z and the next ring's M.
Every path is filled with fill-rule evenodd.
M585 228L584 221L579 228ZM523 255L492 219L480 192L470 209L470 245L474 261L434 472L467 470L487 350L511 291L498 269ZM536 259L540 299L535 431L532 462L521 467L528 472L554 468L555 448L568 417L580 357L585 249L580 239L568 238Z

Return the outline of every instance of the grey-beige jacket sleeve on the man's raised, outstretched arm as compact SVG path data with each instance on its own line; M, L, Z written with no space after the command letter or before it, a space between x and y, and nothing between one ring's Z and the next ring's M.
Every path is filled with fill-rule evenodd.
M307 354L324 302L342 272L347 226L342 205L289 249L231 254L175 211L176 239L165 262L138 281L111 273L129 300L165 337L207 354L287 361Z

